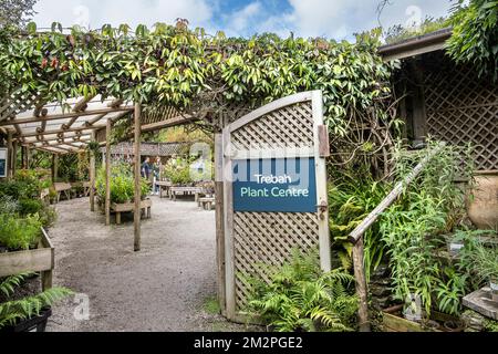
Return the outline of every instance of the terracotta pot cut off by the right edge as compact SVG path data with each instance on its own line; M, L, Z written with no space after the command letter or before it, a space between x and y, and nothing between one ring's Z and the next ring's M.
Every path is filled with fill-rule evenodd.
M479 229L498 227L498 173L476 176L474 200L468 202L468 217Z

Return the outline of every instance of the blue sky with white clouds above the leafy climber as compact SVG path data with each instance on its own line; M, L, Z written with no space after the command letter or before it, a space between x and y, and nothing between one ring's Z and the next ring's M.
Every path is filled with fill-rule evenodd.
M34 21L39 28L52 22L63 27L80 24L100 29L103 24L153 25L187 19L190 28L218 30L230 37L251 37L273 32L287 38L325 37L351 40L382 24L412 27L425 17L446 15L450 0L388 0L377 15L381 0L39 0Z

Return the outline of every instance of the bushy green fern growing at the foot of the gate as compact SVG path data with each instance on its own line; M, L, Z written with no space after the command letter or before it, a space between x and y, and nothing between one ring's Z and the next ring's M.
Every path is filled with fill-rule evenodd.
M252 285L247 313L262 317L279 332L353 331L354 278L342 269L323 273L318 259L317 252L294 251L281 268L263 267L269 282L247 279Z

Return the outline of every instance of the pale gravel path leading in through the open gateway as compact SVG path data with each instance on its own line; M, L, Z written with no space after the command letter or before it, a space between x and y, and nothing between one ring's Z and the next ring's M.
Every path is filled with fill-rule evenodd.
M75 320L71 299L54 309L48 331L246 330L208 310L216 296L214 211L154 197L152 219L142 223L142 251L135 253L133 216L105 227L87 198L61 202L56 210L59 220L49 231L54 285L86 294L90 320Z

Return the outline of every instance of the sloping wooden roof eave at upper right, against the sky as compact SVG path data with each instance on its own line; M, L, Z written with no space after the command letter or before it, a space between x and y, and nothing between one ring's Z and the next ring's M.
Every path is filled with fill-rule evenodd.
M452 28L446 28L397 43L383 45L378 49L378 54L388 62L439 51L445 48L446 41L452 37Z

